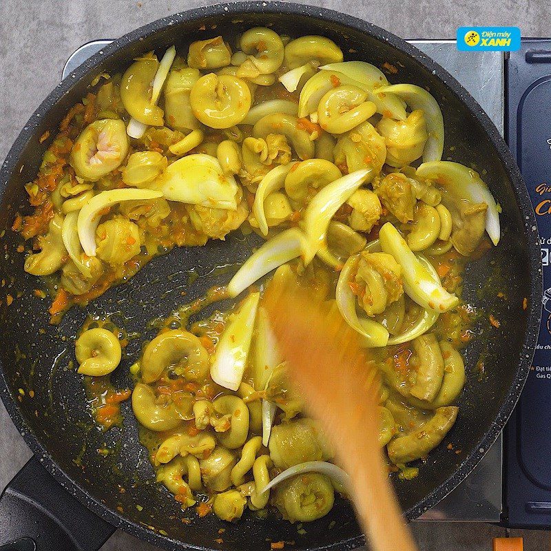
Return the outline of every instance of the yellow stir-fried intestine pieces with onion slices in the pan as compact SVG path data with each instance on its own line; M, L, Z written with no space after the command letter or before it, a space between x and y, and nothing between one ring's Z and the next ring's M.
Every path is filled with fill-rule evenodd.
M343 60L325 37L254 28L102 74L26 186L34 213L14 222L32 242L25 270L54 280L54 322L171 247L239 229L265 239L220 293L231 311L163 327L131 370L157 481L183 508L206 495L201 512L225 521L270 505L311 521L346 494L271 335L274 279L309 287L371 349L391 470L458 415L461 273L485 232L499 242L498 207L477 172L441 160L437 98ZM76 360L107 377L118 337L83 331Z

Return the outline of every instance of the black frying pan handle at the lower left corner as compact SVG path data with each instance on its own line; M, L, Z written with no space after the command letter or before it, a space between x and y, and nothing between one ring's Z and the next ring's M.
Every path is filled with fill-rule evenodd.
M0 551L97 551L114 531L34 456L0 497Z

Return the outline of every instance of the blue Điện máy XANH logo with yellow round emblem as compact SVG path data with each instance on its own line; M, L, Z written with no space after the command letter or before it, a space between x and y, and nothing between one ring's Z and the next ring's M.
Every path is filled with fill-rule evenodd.
M457 50L460 52L516 52L521 47L518 27L459 27Z

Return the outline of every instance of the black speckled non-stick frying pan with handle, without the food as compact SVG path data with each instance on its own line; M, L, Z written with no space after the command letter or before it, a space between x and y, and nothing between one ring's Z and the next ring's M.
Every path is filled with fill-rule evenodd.
M28 211L23 185L34 178L49 145L49 141L39 143L39 137L46 130L55 134L65 112L85 95L96 74L120 71L148 50L163 52L173 43L183 47L216 34L234 36L257 25L270 25L291 36L322 34L340 45L348 59L380 67L388 62L390 81L428 88L444 114L444 158L484 174L503 209L499 247L466 269L464 298L477 306L479 316L477 337L465 351L468 382L459 401L459 418L422 465L419 477L396 484L408 519L434 506L468 475L517 402L539 327L539 239L519 170L479 105L422 52L350 16L295 3L260 1L183 12L126 34L72 72L30 118L1 168L0 235L5 250L0 257L0 280L5 282L0 287L0 391L34 459L0 501L0 543L29 537L42 549L72 545L96 549L115 527L167 549L259 550L269 548L270 541L283 540L294 542L296 549L344 550L364 542L353 510L344 500L337 501L327 517L308 524L306 534L276 514L267 519L246 514L237 523L224 523L214 515L198 519L192 511L182 512L168 492L154 483L129 403L123 404L122 428L101 433L92 423L81 377L72 365L73 338L87 315L110 315L127 331L140 333L112 375L115 386L126 387L130 384L127 368L139 356L140 343L154 335L147 320L169 314L213 284L226 283L258 244L255 237L236 234L206 247L174 249L87 308L73 308L54 326L48 323L48 300L33 293L37 278L23 271L23 255L16 251L21 241L10 231L15 213ZM218 266L225 270L213 271ZM192 272L200 275L194 283L189 282ZM505 300L497 298L499 290L506 293ZM187 293L185 299L181 291ZM8 294L14 299L11 304L6 301ZM499 329L488 324L490 313L501 322ZM475 369L480 355L484 370ZM454 444L453 452L447 449L448 443ZM110 450L107 457L98 454L100 448ZM216 542L220 538L223 543ZM31 543L30 539L20 542Z

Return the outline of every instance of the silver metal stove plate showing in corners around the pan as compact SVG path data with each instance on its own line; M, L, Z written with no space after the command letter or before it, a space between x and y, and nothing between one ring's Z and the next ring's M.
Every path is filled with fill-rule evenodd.
M96 40L76 50L63 67L63 79L110 40ZM457 79L483 107L503 134L503 54L459 52L455 40L411 40ZM499 522L502 508L502 438L470 475L418 521Z

